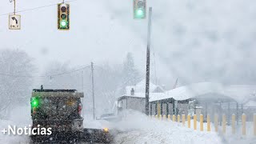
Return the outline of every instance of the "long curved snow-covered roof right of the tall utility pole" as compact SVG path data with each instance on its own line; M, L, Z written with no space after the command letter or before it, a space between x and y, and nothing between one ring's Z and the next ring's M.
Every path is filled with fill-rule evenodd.
M153 96L151 101L158 101L167 98L175 100L186 100L196 98L203 94L222 94L232 98L237 102L245 102L255 94L256 86L251 85L231 85L224 86L221 83L199 82L188 86L181 86L173 90L166 91L161 97Z

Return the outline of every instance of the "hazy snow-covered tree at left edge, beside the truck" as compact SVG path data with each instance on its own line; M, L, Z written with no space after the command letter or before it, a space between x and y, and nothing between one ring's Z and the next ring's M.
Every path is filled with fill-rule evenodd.
M0 118L15 106L30 104L32 60L22 50L0 50Z

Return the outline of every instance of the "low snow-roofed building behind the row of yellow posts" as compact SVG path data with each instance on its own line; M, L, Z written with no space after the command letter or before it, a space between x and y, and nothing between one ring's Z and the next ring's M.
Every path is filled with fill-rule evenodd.
M126 94L118 98L118 110L133 109L145 112L145 80L135 86L126 86ZM198 82L164 90L150 82L150 114L226 114L230 123L231 114L240 118L243 113L256 111L256 86L230 85L215 82ZM247 118L252 121L252 118Z

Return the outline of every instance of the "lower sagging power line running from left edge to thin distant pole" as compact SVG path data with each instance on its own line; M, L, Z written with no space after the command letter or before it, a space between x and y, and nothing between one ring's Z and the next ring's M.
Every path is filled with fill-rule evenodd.
M30 75L18 75L18 74L2 74L0 73L0 75L4 75L4 76L8 76L8 77L18 77L18 78L35 78L35 77L39 77L39 78L44 78L44 77L54 77L54 76L59 76L59 75L63 75L63 74L71 74L80 70L84 70L86 68L88 68L90 66L84 66L80 69L77 70L72 70L72 71L68 71L68 72L63 72L63 73L59 73L59 74L50 74L50 75L38 75L38 76L30 76Z

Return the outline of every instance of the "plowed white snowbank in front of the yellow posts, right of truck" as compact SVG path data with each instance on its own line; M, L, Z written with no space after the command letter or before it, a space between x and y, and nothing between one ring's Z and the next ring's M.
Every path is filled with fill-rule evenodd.
M126 118L114 125L122 131L116 136L116 143L222 143L222 138L214 132L194 131L176 122L159 121L136 112L125 115Z

